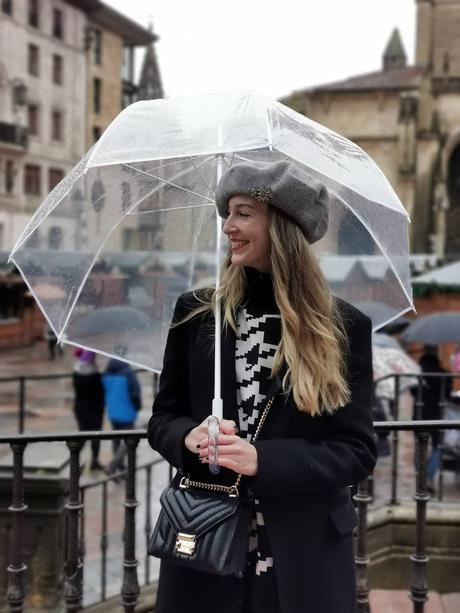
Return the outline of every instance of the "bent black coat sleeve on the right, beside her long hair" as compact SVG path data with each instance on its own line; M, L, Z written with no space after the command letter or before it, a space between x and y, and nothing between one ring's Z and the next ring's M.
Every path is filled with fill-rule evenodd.
M253 481L256 496L332 491L358 483L374 468L377 454L372 430L369 318L360 313L348 335L350 402L332 415L313 418L322 421L321 435L316 439L257 441L258 473Z

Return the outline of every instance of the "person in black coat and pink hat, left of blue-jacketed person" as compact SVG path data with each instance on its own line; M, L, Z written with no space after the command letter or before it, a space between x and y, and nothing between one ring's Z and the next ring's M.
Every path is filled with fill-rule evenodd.
M104 389L96 365L96 354L77 348L73 370L74 414L80 431L102 430ZM99 462L100 441L91 441L90 470L103 470Z

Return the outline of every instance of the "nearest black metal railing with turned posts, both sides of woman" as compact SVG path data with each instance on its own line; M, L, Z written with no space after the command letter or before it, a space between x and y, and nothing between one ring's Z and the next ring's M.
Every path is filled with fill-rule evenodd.
M423 613L425 602L428 600L428 581L426 555L426 507L430 500L427 492L427 454L429 433L449 429L460 429L460 420L457 421L424 421L424 422L377 422L374 424L377 433L381 431L415 433L416 446L416 536L412 560L412 579L409 586L410 597L413 602L413 612ZM99 439L124 439L127 446L127 471L124 489L124 526L123 526L123 571L121 577L120 602L127 613L134 613L139 597L138 560L136 559L136 477L139 470L151 471L156 463L137 467L136 449L141 439L146 437L144 430L128 430L118 432L85 432L49 435L22 435L15 437L0 437L0 445L8 444L13 451L13 482L12 499L9 511L12 517L11 550L7 568L8 592L7 602L11 612L24 611L26 598L25 571L26 563L23 553L24 519L27 510L27 500L24 494L23 458L27 445L39 442L65 442L70 455L70 481L69 494L66 502L67 530L66 553L64 564L64 602L66 611L76 611L82 606L83 598L83 569L84 569L84 512L86 492L95 487L107 487L109 479L82 487L80 485L80 451L85 441ZM160 462L161 460L158 460ZM149 483L147 479L147 483ZM146 492L147 506L151 506L151 491ZM356 539L356 571L358 579L358 610L360 613L369 611L369 584L368 584L368 550L366 542L367 512L371 502L368 491L368 481L359 484L358 492L354 497L358 510L358 528ZM104 526L106 532L107 499L102 506L103 529L101 544L105 544ZM105 519L104 519L105 518ZM105 522L105 523L104 523ZM147 537L152 528L152 518L148 515L144 532ZM105 545L104 545L105 547ZM102 551L106 551L106 549ZM102 562L101 590L103 598L106 596L104 573L106 558ZM148 578L148 570L145 571Z

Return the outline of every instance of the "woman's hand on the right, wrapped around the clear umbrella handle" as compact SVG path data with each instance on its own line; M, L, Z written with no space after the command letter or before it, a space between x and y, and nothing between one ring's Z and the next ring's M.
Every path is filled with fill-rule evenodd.
M233 422L222 420L218 437L219 448L219 466L229 468L236 473L242 475L254 476L257 474L257 449L251 443L241 439L230 430L233 428ZM209 442L208 438L202 439L199 443L199 455L201 462L208 463Z

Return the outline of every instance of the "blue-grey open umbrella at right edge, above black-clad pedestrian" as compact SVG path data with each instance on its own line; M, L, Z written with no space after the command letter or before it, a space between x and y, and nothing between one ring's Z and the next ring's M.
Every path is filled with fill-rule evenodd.
M460 342L460 312L445 311L419 317L404 330L401 340L425 345Z

